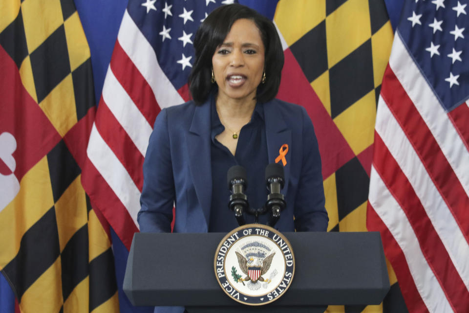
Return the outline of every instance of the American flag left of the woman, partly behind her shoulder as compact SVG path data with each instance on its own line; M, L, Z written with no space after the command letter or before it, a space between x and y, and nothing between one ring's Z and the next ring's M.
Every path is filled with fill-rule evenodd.
M192 41L233 0L129 0L87 147L85 190L129 249L138 231L142 165L156 115L189 100Z

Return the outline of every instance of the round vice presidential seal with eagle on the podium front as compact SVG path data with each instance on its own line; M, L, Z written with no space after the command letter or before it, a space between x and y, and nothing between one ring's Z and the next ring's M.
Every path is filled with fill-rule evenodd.
M246 224L228 233L216 248L213 265L223 291L247 305L277 300L295 273L292 246L263 224Z

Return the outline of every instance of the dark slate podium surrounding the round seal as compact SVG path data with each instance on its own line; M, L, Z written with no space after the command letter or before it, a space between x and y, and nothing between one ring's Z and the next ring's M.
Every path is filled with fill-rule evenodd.
M389 290L378 232L287 232L295 254L288 291L264 306L237 303L218 285L216 247L225 233L136 233L124 291L137 306L198 312L324 312L327 305L380 304Z

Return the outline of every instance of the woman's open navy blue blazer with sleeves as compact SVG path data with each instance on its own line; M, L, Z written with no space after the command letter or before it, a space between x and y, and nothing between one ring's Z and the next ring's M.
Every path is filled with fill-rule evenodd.
M143 165L140 231L170 232L173 203L174 232L208 231L213 186L210 106L210 99L200 106L190 101L158 114ZM288 145L282 189L287 207L276 228L325 231L321 160L311 119L303 107L278 99L264 104L264 119L269 163ZM226 181L215 183L226 186Z

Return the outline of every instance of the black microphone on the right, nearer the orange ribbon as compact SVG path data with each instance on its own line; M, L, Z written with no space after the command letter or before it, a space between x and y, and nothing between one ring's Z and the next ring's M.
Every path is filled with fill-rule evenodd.
M270 218L267 223L274 227L280 218L280 212L287 206L283 195L280 193L285 184L285 174L283 166L278 163L271 163L265 168L265 183L270 194L267 196L265 207L270 210Z

